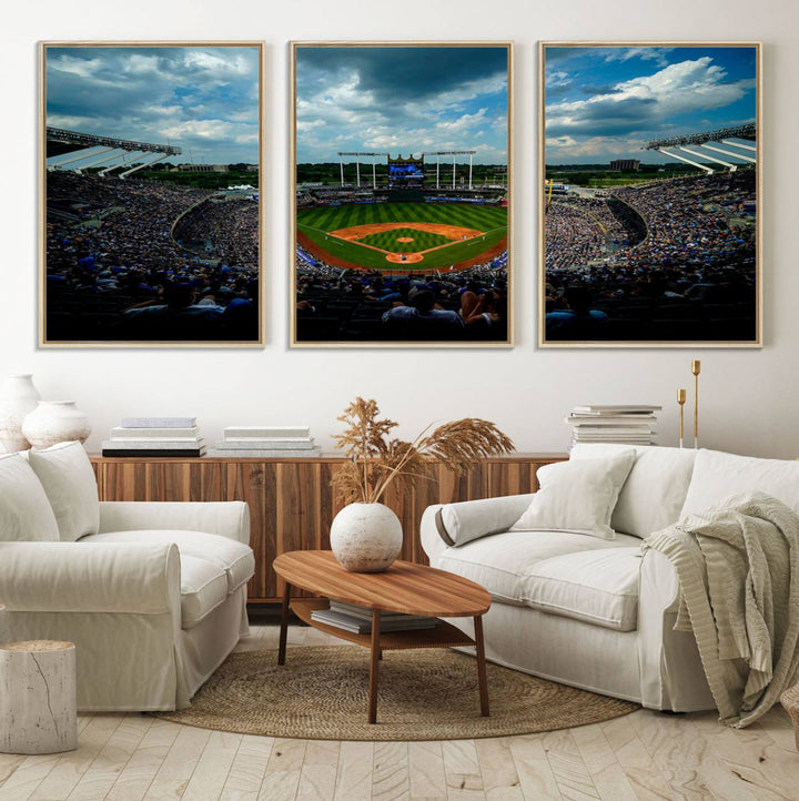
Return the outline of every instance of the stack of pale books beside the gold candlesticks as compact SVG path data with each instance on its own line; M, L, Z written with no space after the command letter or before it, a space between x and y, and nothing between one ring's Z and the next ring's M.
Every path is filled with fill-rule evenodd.
M575 406L566 423L573 443L657 445L656 412L663 406Z

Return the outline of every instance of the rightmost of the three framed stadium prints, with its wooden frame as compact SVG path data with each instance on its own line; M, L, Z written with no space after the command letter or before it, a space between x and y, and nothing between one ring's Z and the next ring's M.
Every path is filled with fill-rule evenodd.
M760 45L539 55L539 345L760 346Z

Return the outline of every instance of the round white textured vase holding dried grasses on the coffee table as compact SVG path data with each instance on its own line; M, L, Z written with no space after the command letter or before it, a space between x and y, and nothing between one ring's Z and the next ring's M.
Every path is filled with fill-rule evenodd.
M350 504L331 526L331 549L345 570L380 572L402 550L400 518L383 504Z

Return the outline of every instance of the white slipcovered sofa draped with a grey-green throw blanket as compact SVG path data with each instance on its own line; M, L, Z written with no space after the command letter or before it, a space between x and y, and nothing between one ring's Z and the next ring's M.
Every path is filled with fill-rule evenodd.
M570 458L625 449L630 448L577 445ZM523 495L428 507L422 544L433 567L492 594L484 625L492 661L654 709L714 709L694 636L672 630L679 599L675 570L661 554L641 554L641 539L749 490L799 513L799 463L634 449L613 511L614 539L510 531L533 498ZM464 544L448 545L458 540ZM468 620L451 622L472 633Z

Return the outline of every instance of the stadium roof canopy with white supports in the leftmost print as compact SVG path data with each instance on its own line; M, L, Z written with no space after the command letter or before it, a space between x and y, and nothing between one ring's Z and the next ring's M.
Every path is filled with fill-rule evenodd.
M163 161L170 155L179 155L182 151L171 144L152 144L133 142L112 136L94 136L60 128L47 128L47 144L55 145L58 155L49 156L47 169L82 172L89 168L102 168L101 175L114 170L125 169L120 178L125 178L136 170Z

